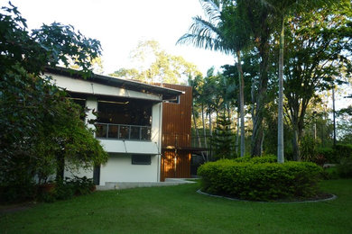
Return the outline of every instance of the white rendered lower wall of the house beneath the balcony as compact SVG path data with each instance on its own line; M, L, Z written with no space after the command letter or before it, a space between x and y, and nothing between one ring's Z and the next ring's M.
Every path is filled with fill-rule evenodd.
M107 165L100 167L100 185L107 182L157 182L158 157L152 156L151 165L133 165L131 155L112 154Z

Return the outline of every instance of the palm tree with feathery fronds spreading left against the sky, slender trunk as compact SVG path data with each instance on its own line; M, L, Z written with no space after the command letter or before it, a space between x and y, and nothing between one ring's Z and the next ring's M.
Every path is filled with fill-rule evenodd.
M240 1L237 1L240 2ZM232 54L237 58L240 84L240 115L241 115L241 157L245 155L245 111L244 111L244 78L241 64L241 49L249 41L250 33L245 33L245 25L240 24L239 7L221 5L218 1L200 0L207 20L200 16L193 17L189 32L177 40L177 44L190 43L195 47L217 50ZM220 10L220 7L224 7Z

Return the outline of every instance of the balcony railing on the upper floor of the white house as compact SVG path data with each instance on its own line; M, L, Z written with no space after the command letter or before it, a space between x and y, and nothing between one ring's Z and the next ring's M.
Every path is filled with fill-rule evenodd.
M96 124L96 137L100 139L151 140L152 127L115 123Z

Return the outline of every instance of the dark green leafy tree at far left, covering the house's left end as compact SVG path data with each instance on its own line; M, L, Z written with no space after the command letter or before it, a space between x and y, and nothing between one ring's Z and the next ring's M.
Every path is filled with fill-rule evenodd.
M78 106L50 77L42 77L46 66L68 66L69 60L89 76L99 41L60 23L29 32L10 4L0 12L0 49L1 198L32 196L34 175L40 183L55 171L60 175L62 159L74 167L106 162L107 153L80 121Z

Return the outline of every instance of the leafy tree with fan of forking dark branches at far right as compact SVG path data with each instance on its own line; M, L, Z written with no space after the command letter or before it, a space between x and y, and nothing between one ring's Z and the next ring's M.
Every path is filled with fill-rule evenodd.
M319 101L320 92L331 87L334 76L351 76L347 70L352 65L351 16L350 2L340 1L289 19L284 107L292 125L295 160L300 160L299 139L307 108L312 101Z

